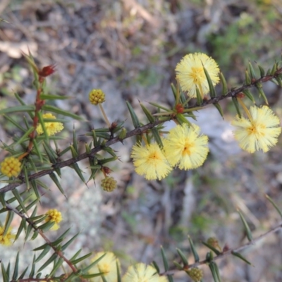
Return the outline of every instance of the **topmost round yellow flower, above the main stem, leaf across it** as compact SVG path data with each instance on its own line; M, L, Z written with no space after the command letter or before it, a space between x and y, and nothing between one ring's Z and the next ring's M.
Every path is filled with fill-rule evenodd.
M190 97L197 96L197 87L202 97L209 92L209 84L203 66L209 73L212 84L219 83L219 66L214 59L206 54L188 54L176 65L176 79L181 89L187 91Z

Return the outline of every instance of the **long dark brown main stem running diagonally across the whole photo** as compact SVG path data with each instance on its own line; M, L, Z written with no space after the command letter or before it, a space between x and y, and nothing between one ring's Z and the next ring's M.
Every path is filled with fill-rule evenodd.
M226 95L221 95L218 97L214 97L211 99L208 99L207 101L202 102L202 104L200 105L193 105L193 106L188 106L187 109L193 109L195 107L197 108L203 108L204 106L208 106L209 104L216 104L219 101L229 98L229 97L237 97L238 94L240 94L241 92L243 92L243 90L247 90L250 87L256 87L257 84L262 83L262 82L266 82L269 81L273 78L278 77L278 75L281 75L282 73L282 68L279 68L273 75L265 75L262 78L259 78L257 80L253 80L249 85L243 85L242 87L239 87L235 90L231 90L229 91ZM167 117L165 121L171 121L173 120L173 116ZM130 131L129 133L127 133L125 135L125 138L123 138L123 140L129 138L129 137L133 137L135 135L140 135L142 133L145 133L147 130L150 130L152 128L154 128L155 126L164 123L164 120L157 120L154 123L147 123L146 125L140 126L140 128L135 128L134 130ZM52 166L52 168L44 170L44 171L39 171L38 173L34 173L32 174L28 179L29 180L34 180L37 178L40 178L42 176L46 176L48 174L51 174L52 172L54 172L55 168L63 168L65 166L71 166L72 164L77 163L78 161L81 161L82 159L87 159L87 157L93 157L95 154L97 154L99 151L101 151L104 147L109 147L111 145L114 145L117 142L122 142L123 140L119 139L118 137L114 137L111 140L107 141L104 145L100 145L98 147L95 147L91 150L90 154L87 153L83 153L80 154L78 157L76 158L71 158L71 159L67 159L66 161L61 161L57 164L54 164ZM15 188L17 188L18 186L22 185L23 183L26 182L25 179L20 179L21 182L17 182L17 183L11 183L6 185L4 188L0 189L0 193L4 193L4 192L8 192L11 191Z

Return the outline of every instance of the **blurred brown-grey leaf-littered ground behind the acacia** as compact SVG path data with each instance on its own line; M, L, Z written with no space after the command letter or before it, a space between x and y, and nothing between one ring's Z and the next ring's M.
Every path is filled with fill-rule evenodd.
M65 138L59 144L63 149L69 145L75 128L80 152L90 141L85 132L106 127L98 109L88 102L92 88L106 93L104 107L109 120L125 121L130 130L133 125L125 101L133 105L144 123L139 101L172 106L170 83L175 82L176 63L185 54L212 56L230 88L243 84L248 61L267 70L281 59L281 0L1 0L0 18L0 108L18 104L15 92L27 104L35 101L32 73L22 51L29 50L40 67L56 64L56 73L48 79L49 92L72 99L52 103L87 120L66 123ZM220 93L220 87L218 90ZM264 84L264 91L281 117L281 89L269 82ZM257 93L255 97L257 104L263 103ZM211 236L218 238L221 247L243 245L247 240L238 208L254 237L276 226L281 219L264 195L282 207L281 138L267 154L242 152L231 133L233 104L226 99L221 106L224 120L212 106L196 113L202 132L209 135L211 150L201 168L173 171L165 180L148 182L134 172L130 161L134 140L126 140L124 145L114 146L121 159L111 163L111 176L118 180L114 192L102 191L101 175L85 185L71 168L62 170L66 197L49 178L42 179L50 191L42 189L39 213L56 208L64 219L59 231L47 234L49 238L58 237L71 226L72 234L80 235L67 255L81 247L84 254L113 250L124 271L133 262L161 262L160 245L171 267L173 259L178 261L176 247L192 263L188 235L201 259L208 251L201 241ZM23 116L13 118L23 122ZM9 144L17 133L0 116L1 141ZM0 159L5 154L0 152ZM79 165L87 178L87 162ZM13 227L19 223L15 217ZM0 246L0 259L5 265L8 260L13 264L20 250L20 265L26 267L32 259L31 248L42 243L37 239L23 246L18 240L13 250ZM255 267L235 257L221 259L222 280L282 281L281 246L282 235L276 233L245 250L243 255ZM202 269L204 281L212 281L208 266ZM190 278L179 272L175 281Z

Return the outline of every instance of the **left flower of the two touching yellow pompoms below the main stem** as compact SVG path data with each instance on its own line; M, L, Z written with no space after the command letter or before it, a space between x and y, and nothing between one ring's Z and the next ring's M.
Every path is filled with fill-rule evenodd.
M171 166L164 157L164 152L157 143L146 146L136 144L131 151L135 171L147 180L165 178L171 171Z

